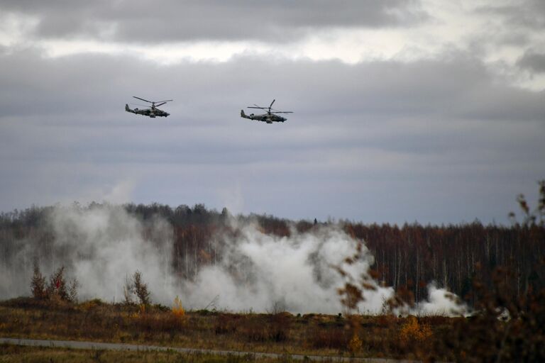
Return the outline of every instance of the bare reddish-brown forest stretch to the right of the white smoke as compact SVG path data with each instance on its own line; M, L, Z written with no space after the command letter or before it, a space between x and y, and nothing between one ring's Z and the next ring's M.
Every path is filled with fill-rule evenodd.
M545 287L545 228L539 225L423 226L346 224L375 256L380 279L407 288L420 300L436 281L470 303L473 283L492 286L494 272L505 269L510 295L520 297Z

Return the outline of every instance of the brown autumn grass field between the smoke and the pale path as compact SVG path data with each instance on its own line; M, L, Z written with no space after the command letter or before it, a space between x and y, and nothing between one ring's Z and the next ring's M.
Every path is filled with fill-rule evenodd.
M182 315L101 301L68 304L17 298L0 305L0 335L43 340L123 342L211 350L331 357L439 357L456 318L290 313ZM441 344L441 347L439 347Z

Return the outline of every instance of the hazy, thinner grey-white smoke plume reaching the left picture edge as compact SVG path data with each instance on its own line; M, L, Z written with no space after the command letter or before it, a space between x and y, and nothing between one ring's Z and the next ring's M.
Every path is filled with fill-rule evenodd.
M2 264L0 298L30 293L33 261L46 276L65 266L67 277L79 281L82 299L119 302L126 277L137 269L157 301L172 297L172 228L164 220L141 223L120 206L57 206L48 213L47 224L44 229L53 235L18 241L15 255Z

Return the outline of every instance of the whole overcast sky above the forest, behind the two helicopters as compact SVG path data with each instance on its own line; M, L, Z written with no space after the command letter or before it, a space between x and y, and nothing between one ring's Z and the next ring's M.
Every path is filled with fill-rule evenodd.
M0 0L0 211L507 223L545 178L544 30L543 0Z

